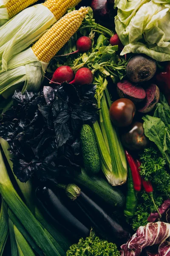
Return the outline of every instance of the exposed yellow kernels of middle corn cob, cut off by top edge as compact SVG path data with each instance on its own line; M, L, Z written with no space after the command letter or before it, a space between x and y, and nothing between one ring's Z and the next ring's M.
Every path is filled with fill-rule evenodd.
M76 6L81 0L47 0L43 3L55 16L56 20L59 20L68 9Z

